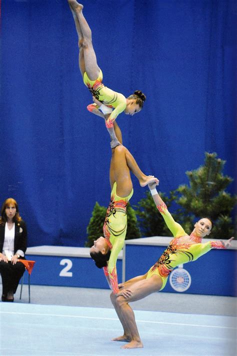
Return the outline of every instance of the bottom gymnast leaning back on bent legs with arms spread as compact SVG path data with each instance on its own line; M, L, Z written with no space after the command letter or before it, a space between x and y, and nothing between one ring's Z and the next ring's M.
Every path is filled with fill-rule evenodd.
M143 347L135 322L133 310L128 304L164 288L169 273L179 264L194 261L211 248L226 248L233 237L227 241L208 241L201 243L202 237L209 235L211 221L204 217L194 224L194 229L188 235L181 225L174 221L167 207L155 188L156 183L148 184L157 209L174 238L161 254L157 262L147 273L129 279L118 285L119 292L111 293L110 298L117 316L123 327L123 335L113 338L114 341L128 341L121 348Z

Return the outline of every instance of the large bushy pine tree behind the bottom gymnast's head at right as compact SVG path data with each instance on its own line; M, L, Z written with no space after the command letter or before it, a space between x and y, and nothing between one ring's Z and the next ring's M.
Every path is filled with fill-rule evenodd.
M215 152L205 152L204 164L186 172L189 185L179 185L174 193L176 203L181 206L175 216L187 232L192 230L195 220L209 217L214 222L212 236L223 238L234 232L230 213L236 196L225 191L233 179L223 175L225 161L216 156Z

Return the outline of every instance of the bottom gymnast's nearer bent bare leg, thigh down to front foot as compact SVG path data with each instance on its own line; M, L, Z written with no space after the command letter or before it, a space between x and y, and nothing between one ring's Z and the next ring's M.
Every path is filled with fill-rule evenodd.
M128 302L142 299L145 296L160 290L161 286L162 279L158 275L152 275L149 279L140 280L129 286L128 289L131 291L131 296L129 298L119 295L114 300L113 296L111 296L113 305L116 305L115 310L118 315L120 315L119 320L123 321L122 326L125 325L124 332L126 332L126 334L129 333L131 336L130 342L121 346L121 348L143 347L136 326L134 312Z

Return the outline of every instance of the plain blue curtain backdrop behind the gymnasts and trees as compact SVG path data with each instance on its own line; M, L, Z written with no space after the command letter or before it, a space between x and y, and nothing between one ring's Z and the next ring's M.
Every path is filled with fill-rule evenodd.
M215 151L234 176L235 1L83 4L104 84L147 96L117 119L141 169L168 193ZM86 110L67 1L1 0L1 48L0 200L18 201L29 246L82 246L95 201L109 201L110 146Z

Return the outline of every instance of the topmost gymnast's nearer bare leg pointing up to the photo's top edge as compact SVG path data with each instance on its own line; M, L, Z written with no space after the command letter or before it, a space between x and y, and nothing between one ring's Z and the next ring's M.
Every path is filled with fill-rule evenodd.
M79 38L81 39L81 41L79 40L80 42L79 46L80 45L83 46L84 71L86 71L90 80L96 80L99 75L100 69L97 65L96 55L92 45L91 30L82 13L83 5L81 5L75 0L67 0L67 1L69 3L71 10L75 13L79 23L78 26L77 22L75 21L76 30Z

